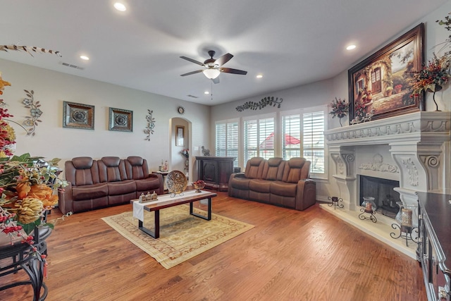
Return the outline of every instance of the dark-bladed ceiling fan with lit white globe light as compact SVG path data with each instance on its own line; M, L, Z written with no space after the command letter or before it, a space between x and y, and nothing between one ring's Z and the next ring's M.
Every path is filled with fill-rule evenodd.
M195 73L204 73L204 75L206 76L206 78L209 78L211 80L213 80L213 82L215 84L217 84L219 82L219 74L221 74L221 72L223 73L233 73L233 74L241 74L241 75L246 75L247 71L244 70L238 70L238 69L233 69L233 68L223 68L222 66L227 63L228 61L230 61L230 59L233 58L232 54L224 54L223 56L221 56L219 59L213 59L213 56L216 52L213 50L209 51L209 56L210 59L206 59L204 61L204 63L201 63L199 61L196 61L194 59L190 59L187 58L186 56L180 56L180 59L185 59L187 61L190 61L192 63L197 63L197 65L200 66L204 66L204 69L201 70L195 70L192 72L188 72L185 74L182 74L180 76L186 76L186 75L192 75Z

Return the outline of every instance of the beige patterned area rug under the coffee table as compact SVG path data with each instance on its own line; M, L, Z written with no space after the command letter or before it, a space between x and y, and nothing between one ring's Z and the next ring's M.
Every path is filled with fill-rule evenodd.
M195 209L199 214L205 211ZM166 269L185 262L237 235L254 228L248 223L211 214L211 221L190 215L190 207L180 205L160 210L160 238L155 239L138 229L132 211L102 218ZM144 226L154 229L154 212L144 212Z

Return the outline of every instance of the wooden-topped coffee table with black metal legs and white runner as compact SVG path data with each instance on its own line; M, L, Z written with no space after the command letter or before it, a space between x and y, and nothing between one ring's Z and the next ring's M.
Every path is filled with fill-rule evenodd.
M201 219L206 219L207 221L211 220L211 198L216 197L216 193L214 192L206 192L202 191L202 193L195 193L194 190L185 191L183 196L175 195L173 199L168 199L169 195L159 195L159 198L162 200L153 201L149 204L142 203L142 208L145 211L154 211L155 214L155 230L149 230L144 227L144 222L141 219L138 219L138 228L144 233L152 236L153 238L160 237L160 210L168 207L178 206L181 204L190 203L190 214L193 216L197 216ZM201 199L207 199L207 216L203 216L202 214L197 214L193 212L193 202L199 201ZM138 199L132 199L130 203L139 202ZM144 219L144 218L143 218Z

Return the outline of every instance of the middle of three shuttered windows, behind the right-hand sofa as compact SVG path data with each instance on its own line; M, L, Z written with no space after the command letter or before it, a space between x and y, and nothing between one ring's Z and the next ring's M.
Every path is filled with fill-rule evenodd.
M245 163L254 156L272 158L274 152L274 117L244 121Z

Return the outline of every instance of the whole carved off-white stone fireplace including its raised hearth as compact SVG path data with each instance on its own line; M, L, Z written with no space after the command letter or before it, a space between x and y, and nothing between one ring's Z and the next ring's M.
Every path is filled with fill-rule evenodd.
M405 242L390 238L395 204L416 207L416 192L451 193L450 129L451 112L418 111L326 130L328 192L344 208L320 207L416 258ZM377 223L359 221L363 197L374 197L386 216L376 209ZM412 219L417 222L416 214Z

